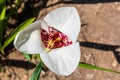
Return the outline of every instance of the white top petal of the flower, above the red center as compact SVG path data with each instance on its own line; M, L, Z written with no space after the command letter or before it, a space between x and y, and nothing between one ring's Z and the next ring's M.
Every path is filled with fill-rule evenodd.
M73 42L80 32L80 18L74 7L62 7L50 12L44 20L49 26L65 33Z

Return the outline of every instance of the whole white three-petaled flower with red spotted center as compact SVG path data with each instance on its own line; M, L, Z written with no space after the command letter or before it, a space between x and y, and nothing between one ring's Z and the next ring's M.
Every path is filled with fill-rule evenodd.
M21 52L39 53L44 64L59 75L69 75L78 66L80 47L76 41L80 19L74 7L61 7L20 31L14 45Z

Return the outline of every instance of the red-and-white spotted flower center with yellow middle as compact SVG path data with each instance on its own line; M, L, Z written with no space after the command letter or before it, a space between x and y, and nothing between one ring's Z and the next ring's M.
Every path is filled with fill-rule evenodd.
M72 44L72 41L68 39L67 35L54 29L53 27L48 27L48 32L42 29L41 39L47 52L52 49L61 48Z

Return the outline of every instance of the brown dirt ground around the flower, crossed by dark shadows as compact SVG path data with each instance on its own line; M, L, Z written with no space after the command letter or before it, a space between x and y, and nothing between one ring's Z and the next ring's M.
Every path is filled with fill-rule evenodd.
M42 0L41 0L42 1ZM120 2L119 0L43 0L34 5L37 19L50 11L73 6L81 18L81 62L120 71ZM42 4L41 4L42 3ZM38 5L42 5L38 7ZM26 13L26 15L29 15ZM29 80L37 60L27 61L23 54L12 48L0 60L0 80ZM120 75L110 72L77 68L69 76L58 76L45 68L41 80L119 80Z

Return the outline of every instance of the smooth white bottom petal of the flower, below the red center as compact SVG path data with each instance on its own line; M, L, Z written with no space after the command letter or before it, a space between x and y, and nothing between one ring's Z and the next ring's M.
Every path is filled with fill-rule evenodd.
M45 65L58 75L69 75L78 66L80 60L79 43L40 54Z

